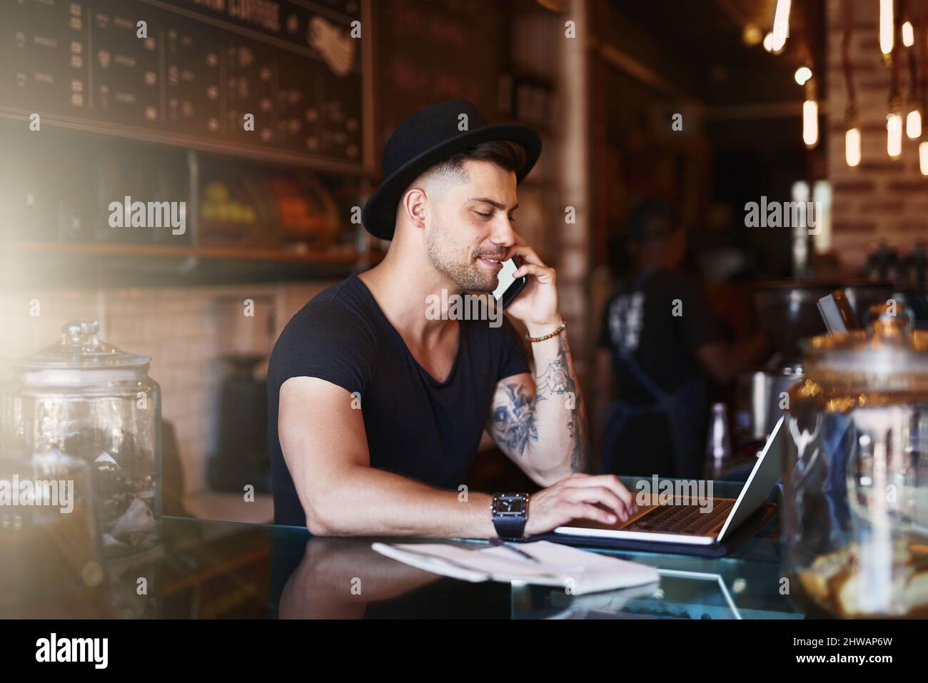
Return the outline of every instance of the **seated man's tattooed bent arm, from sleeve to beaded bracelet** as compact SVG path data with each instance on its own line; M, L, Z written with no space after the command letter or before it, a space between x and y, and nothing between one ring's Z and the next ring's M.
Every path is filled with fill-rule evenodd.
M535 378L499 380L487 430L535 483L547 486L586 467L586 409L566 333L533 343L532 351Z

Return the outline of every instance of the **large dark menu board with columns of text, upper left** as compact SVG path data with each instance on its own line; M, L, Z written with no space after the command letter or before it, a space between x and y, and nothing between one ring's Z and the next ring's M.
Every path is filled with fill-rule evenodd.
M367 0L3 0L0 114L359 173L369 51L352 31L367 30L368 11Z

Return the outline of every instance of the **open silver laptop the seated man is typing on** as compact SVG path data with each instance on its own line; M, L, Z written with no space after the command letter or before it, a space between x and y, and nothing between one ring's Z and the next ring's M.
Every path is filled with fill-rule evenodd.
M781 417L770 433L764 450L757 456L754 469L737 499L712 497L693 500L691 497L674 496L664 496L662 499L659 495L651 494L652 504L638 505L638 512L625 522L603 524L592 520L574 520L554 529L550 539L557 540L557 536L561 535L571 536L574 540L586 537L591 541L612 539L674 546L721 544L764 505L780 478L785 438L783 431ZM635 491L632 495L638 496Z

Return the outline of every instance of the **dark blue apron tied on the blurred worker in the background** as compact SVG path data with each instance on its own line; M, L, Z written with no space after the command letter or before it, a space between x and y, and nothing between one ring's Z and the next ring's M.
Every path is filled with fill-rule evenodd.
M632 284L631 293L643 290L650 272L640 274ZM687 479L702 477L704 459L702 443L702 422L707 406L705 400L705 380L702 376L681 385L676 392L667 393L638 364L634 354L626 352L616 344L616 363L623 363L629 373L638 380L646 392L651 395L651 403L634 405L623 399L616 399L610 404L606 421L606 433L603 439L603 469L614 474L661 474ZM618 368L616 368L618 369ZM618 374L618 373L616 373ZM629 419L645 415L664 415L664 421L670 434L672 445L673 472L618 472L613 465L615 457L623 447L623 432Z

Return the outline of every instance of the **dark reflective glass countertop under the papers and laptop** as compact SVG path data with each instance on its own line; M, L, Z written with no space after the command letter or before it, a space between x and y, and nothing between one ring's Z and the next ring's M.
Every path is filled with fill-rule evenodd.
M728 486L728 488L727 488ZM716 483L716 496L741 484ZM781 594L776 520L723 558L597 550L656 567L658 584L586 596L563 588L468 583L408 567L302 527L161 519L161 545L103 561L101 576L19 575L6 618L802 618ZM462 541L482 548L483 541Z

